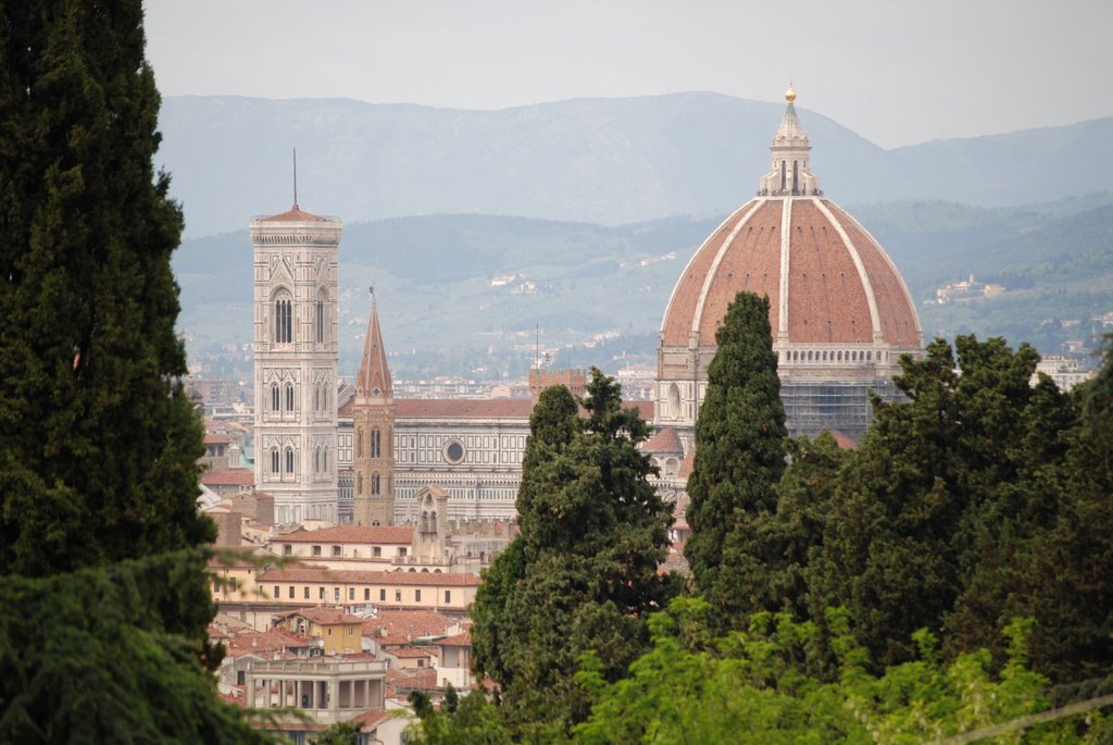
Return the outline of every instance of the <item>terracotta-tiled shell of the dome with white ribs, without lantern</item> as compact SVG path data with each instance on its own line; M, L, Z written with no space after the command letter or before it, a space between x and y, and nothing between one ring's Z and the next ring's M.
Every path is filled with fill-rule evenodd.
M700 346L715 346L727 306L741 291L769 296L772 335L785 331L790 343L869 344L878 332L899 347L919 344L919 322L896 266L827 199L758 198L728 217L678 281L661 344L687 347L695 332Z

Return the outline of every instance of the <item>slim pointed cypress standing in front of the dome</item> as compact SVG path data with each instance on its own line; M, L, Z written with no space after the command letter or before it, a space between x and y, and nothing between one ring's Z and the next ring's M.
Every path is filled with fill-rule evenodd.
M788 431L769 298L739 293L716 333L688 479L692 535L684 546L696 588L720 614L719 630L768 605L755 556L757 525L776 509ZM764 597L762 597L764 596Z

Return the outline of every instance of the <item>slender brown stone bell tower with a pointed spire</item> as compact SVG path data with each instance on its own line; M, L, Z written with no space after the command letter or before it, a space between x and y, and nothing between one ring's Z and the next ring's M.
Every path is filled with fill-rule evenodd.
M374 288L355 381L352 423L353 521L364 526L394 525L394 391Z

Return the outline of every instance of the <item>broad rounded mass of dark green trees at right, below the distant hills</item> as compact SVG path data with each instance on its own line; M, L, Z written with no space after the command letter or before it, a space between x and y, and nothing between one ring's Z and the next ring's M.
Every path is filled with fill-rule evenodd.
M936 341L904 361L908 404L876 420L838 476L806 572L812 617L845 605L880 665L909 659L920 627L947 651L1005 657L1031 616L1034 667L1057 680L1113 663L1113 506L1100 438L1037 356L1001 339Z

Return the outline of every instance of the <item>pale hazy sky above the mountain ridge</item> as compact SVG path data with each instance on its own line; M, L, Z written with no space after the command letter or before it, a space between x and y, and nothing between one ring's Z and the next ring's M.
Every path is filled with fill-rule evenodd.
M884 147L1113 115L1113 0L151 0L164 95L505 108L711 90Z

